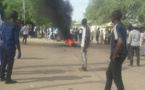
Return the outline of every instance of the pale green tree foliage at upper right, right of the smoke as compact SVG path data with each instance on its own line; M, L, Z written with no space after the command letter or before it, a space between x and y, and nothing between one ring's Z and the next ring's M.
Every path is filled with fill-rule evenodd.
M94 23L103 24L110 21L109 16L114 10L122 12L125 24L145 22L144 0L90 0L85 16Z

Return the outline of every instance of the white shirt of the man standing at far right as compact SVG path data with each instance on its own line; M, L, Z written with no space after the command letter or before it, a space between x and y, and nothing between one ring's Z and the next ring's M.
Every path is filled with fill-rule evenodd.
M131 46L140 46L140 32L137 30L132 30L129 32L128 44Z

